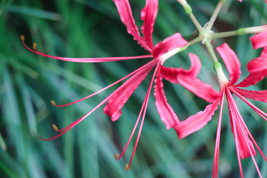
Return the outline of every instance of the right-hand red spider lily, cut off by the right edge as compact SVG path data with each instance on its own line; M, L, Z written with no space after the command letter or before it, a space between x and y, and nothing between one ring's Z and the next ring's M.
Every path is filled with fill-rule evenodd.
M217 47L217 51L223 58L223 62L229 72L229 82L227 81L225 75L223 74L222 65L217 62L215 63L215 69L217 69L217 74L220 81L220 93L221 95L215 100L214 103L208 105L204 111L197 113L196 115L190 116L185 121L178 123L174 129L177 131L179 138L183 138L188 134L191 134L195 131L201 129L204 125L207 124L212 119L215 110L217 110L218 105L221 101L220 106L220 115L219 115L219 122L218 122L218 130L217 130L217 137L216 137L216 146L215 146L215 155L214 155L214 166L213 166L213 177L217 178L218 175L218 163L219 163L219 147L220 147L220 134L221 134L221 122L222 122L222 112L223 112L223 101L224 95L226 96L228 109L229 109L229 118L232 133L235 139L236 144L236 151L238 157L238 164L240 168L240 174L243 178L243 172L241 167L241 160L252 157L255 167L258 171L259 176L262 178L257 163L254 159L256 155L254 145L260 151L264 159L267 161L266 156L263 154L260 147L257 145L256 141L254 140L253 136L250 134L236 104L233 99L232 94L235 94L240 99L242 99L245 103L247 103L254 111L256 111L263 119L267 121L267 113L263 112L255 105L253 105L250 101L246 98L251 98L256 101L263 101L267 102L267 90L261 91L251 91L245 89L239 89L239 87L248 87L250 85L255 85L264 77L267 76L267 68L266 67L254 67L254 64L261 61L261 57L250 61L247 65L248 71L250 75L240 82L239 84L235 85L240 77L240 62L232 49L226 44L223 44ZM266 55L266 49L264 50L263 55ZM266 57L265 57L266 60Z

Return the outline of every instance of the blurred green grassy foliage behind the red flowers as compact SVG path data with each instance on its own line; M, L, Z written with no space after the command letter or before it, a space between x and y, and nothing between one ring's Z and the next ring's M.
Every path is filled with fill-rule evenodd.
M137 26L145 0L130 0ZM188 0L201 25L209 20L217 0ZM216 32L265 25L264 0L227 0L215 22ZM176 0L159 0L154 44L180 32L185 39L195 30ZM96 110L67 134L42 141L56 133L54 123L63 128L79 119L101 102L113 87L93 98L65 107L58 104L85 97L134 71L150 59L107 63L74 63L39 56L20 42L25 36L29 46L50 55L65 57L110 57L145 55L126 31L112 0L1 0L0 1L0 177L1 178L207 178L212 175L218 112L203 129L179 140L173 129L167 130L150 96L141 138L130 171L125 171L134 148L134 139L125 155L116 161L133 130L151 76L139 86L123 107L122 117L111 122ZM241 79L247 76L246 64L259 55L252 50L249 35L217 40L227 42L237 53ZM218 89L212 61L201 44L175 55L167 66L189 68L188 52L202 61L199 78ZM169 103L181 120L205 108L206 102L179 85L164 82ZM266 89L265 79L254 89ZM267 154L267 123L236 98L251 133ZM256 103L264 111L265 103ZM219 177L240 177L235 143L228 113L223 116ZM263 177L267 163L258 153L256 160ZM242 160L246 178L258 174L251 158Z

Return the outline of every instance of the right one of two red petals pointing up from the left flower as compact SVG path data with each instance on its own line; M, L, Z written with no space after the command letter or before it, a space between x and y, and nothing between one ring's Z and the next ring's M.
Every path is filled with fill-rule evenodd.
M141 11L141 19L144 21L141 27L141 32L144 41L151 49L154 47L152 42L152 32L157 13L158 0L146 0L145 7Z

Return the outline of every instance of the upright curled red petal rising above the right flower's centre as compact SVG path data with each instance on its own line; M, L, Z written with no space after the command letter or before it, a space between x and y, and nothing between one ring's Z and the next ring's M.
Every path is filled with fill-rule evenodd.
M223 62L229 72L230 80L228 86L231 86L235 84L240 78L240 62L235 52L227 44L223 44L216 49L223 58Z

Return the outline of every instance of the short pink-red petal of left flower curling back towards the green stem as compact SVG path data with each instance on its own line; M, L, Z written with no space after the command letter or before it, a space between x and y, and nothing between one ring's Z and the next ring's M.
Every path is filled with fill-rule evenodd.
M166 38L162 42L157 43L151 54L154 56L154 59L158 61L166 52L178 47L183 47L185 45L187 45L187 41L182 38L181 34L176 33Z

